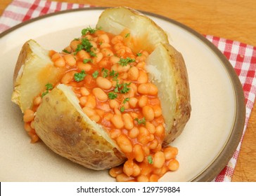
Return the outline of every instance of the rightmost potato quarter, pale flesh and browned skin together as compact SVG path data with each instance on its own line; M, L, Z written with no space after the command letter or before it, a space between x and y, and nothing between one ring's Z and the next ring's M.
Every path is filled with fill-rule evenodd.
M159 90L166 125L163 145L167 145L179 137L191 114L186 65L181 53L169 44L158 45L146 62L150 79Z

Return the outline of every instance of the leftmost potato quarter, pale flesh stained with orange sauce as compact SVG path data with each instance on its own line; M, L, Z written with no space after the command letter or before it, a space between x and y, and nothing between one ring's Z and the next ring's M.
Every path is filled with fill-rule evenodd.
M34 97L45 90L46 83L55 85L61 69L53 66L49 51L41 48L34 40L27 41L20 51L13 74L12 102L25 109L31 109Z

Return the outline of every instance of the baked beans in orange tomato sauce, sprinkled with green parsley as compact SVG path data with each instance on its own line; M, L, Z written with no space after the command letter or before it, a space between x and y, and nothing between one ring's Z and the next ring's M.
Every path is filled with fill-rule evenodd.
M103 125L126 155L124 165L110 169L110 176L117 181L158 181L179 168L178 151L162 148L165 121L158 87L145 69L148 52L134 53L125 44L128 39L134 41L127 31L115 36L88 28L63 52L51 50L49 56L54 66L65 69L59 83L72 87L84 113ZM32 116L40 103L41 94L24 115L25 130L33 137Z

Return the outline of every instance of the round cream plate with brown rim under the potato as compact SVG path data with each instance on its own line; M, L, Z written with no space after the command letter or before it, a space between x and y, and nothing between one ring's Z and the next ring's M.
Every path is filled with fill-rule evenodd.
M95 27L103 8L47 15L0 35L1 118L0 181L114 181L108 171L80 167L51 152L42 142L30 144L23 116L11 102L13 70L23 43L62 50L84 27ZM245 108L241 84L229 62L203 36L173 20L147 13L169 34L184 56L191 87L191 119L172 146L179 148L180 168L161 181L211 181L226 165L243 131Z

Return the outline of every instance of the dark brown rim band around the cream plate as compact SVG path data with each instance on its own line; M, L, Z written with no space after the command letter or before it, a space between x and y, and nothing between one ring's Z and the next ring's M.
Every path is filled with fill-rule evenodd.
M32 18L25 22L20 22L18 25L15 25L10 29L7 29L6 31L1 32L0 38L3 38L7 34L10 34L16 29L19 29L20 27L29 25L30 23L36 22L37 20L50 18L53 15L61 15L65 13L72 13L72 12L84 11L84 10L85 11L86 10L105 10L106 8L112 8L112 7L99 6L99 7L74 8L69 10L60 10L54 13L48 13L46 15L41 15L36 18ZM236 148L239 142L241 141L243 128L245 125L245 95L243 92L243 86L241 84L241 81L239 80L238 75L236 74L236 71L233 69L233 66L231 65L229 60L212 42L210 42L207 38L205 38L205 36L198 33L194 29L191 29L191 27L188 27L182 24L181 22L178 22L177 20L173 20L163 15L151 13L144 10L138 10L138 11L145 15L159 18L167 22L171 22L172 24L177 25L178 27L181 27L181 29L188 31L188 33L192 34L193 36L196 36L196 38L198 38L200 41L205 43L207 47L210 48L210 50L212 50L212 52L219 58L219 61L222 62L222 65L224 66L224 68L226 69L230 77L231 84L233 85L234 98L236 99L235 100L236 111L234 116L233 127L231 129L231 134L229 134L229 138L227 138L226 144L222 148L222 151L219 152L219 155L217 155L215 160L213 160L210 165L205 167L203 172L200 172L197 176L191 179L191 181L195 181L195 182L212 181L222 171L222 169L224 169L226 164L232 158L233 153L236 151Z

